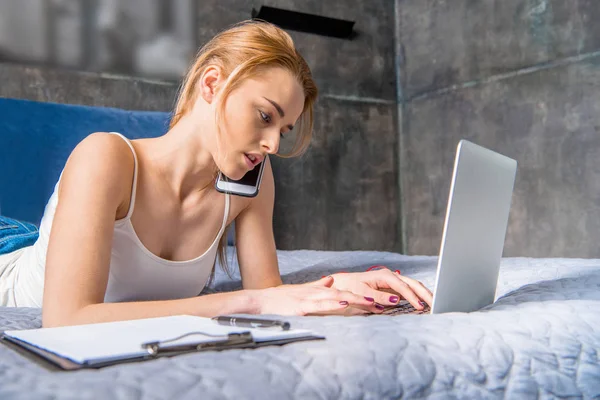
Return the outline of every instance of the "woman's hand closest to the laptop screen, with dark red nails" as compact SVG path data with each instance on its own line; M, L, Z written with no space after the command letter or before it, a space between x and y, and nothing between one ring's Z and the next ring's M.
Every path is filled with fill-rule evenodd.
M400 275L398 270L392 272L387 267L374 266L367 272L344 272L331 276L333 288L373 300L373 304L363 310L366 312L381 313L401 299L406 299L417 310L423 310L426 304L433 302L433 294L421 282Z

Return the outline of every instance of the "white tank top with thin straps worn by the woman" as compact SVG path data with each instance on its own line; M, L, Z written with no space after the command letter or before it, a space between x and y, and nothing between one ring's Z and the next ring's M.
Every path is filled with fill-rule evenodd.
M144 246L131 224L138 176L135 149L123 135L111 133L121 137L131 148L134 170L129 210L124 218L115 221L110 272L104 301L171 300L197 296L208 282L215 264L219 240L225 231L229 216L229 195L225 196L225 213L221 229L204 254L187 261L169 261L158 257ZM50 229L58 205L59 183L60 179L46 205L38 240L33 246L24 249L18 261L14 294L19 307L42 306L44 267Z

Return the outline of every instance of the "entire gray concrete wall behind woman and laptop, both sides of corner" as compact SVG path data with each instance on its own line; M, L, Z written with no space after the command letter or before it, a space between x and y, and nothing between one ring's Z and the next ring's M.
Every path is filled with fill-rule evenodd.
M282 249L437 254L456 144L514 157L507 256L600 257L594 0L203 0L202 44L261 5L356 21L290 32L321 89L304 157L275 159ZM0 65L0 96L170 110L176 84Z

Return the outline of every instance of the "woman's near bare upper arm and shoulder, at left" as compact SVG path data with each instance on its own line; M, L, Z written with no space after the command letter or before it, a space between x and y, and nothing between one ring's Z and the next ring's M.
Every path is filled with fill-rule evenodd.
M104 301L114 223L132 179L133 155L115 135L90 135L69 156L46 256L44 325Z

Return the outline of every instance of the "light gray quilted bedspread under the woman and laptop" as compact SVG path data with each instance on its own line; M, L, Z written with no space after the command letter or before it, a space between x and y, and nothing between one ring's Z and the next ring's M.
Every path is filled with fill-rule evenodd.
M287 283L373 264L435 278L433 257L279 258ZM238 287L219 273L211 290ZM327 339L100 370L51 371L0 346L0 399L600 398L600 260L504 259L498 297L470 314L293 317ZM0 308L0 330L39 326L37 309Z

